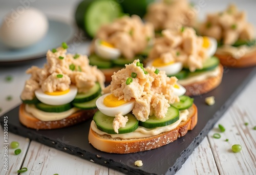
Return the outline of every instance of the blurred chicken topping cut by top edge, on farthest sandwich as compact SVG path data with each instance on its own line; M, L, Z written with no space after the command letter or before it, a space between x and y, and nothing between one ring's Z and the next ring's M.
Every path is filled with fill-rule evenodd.
M154 25L156 34L159 36L164 29L195 26L196 14L187 0L162 0L148 5L144 18L145 21Z

